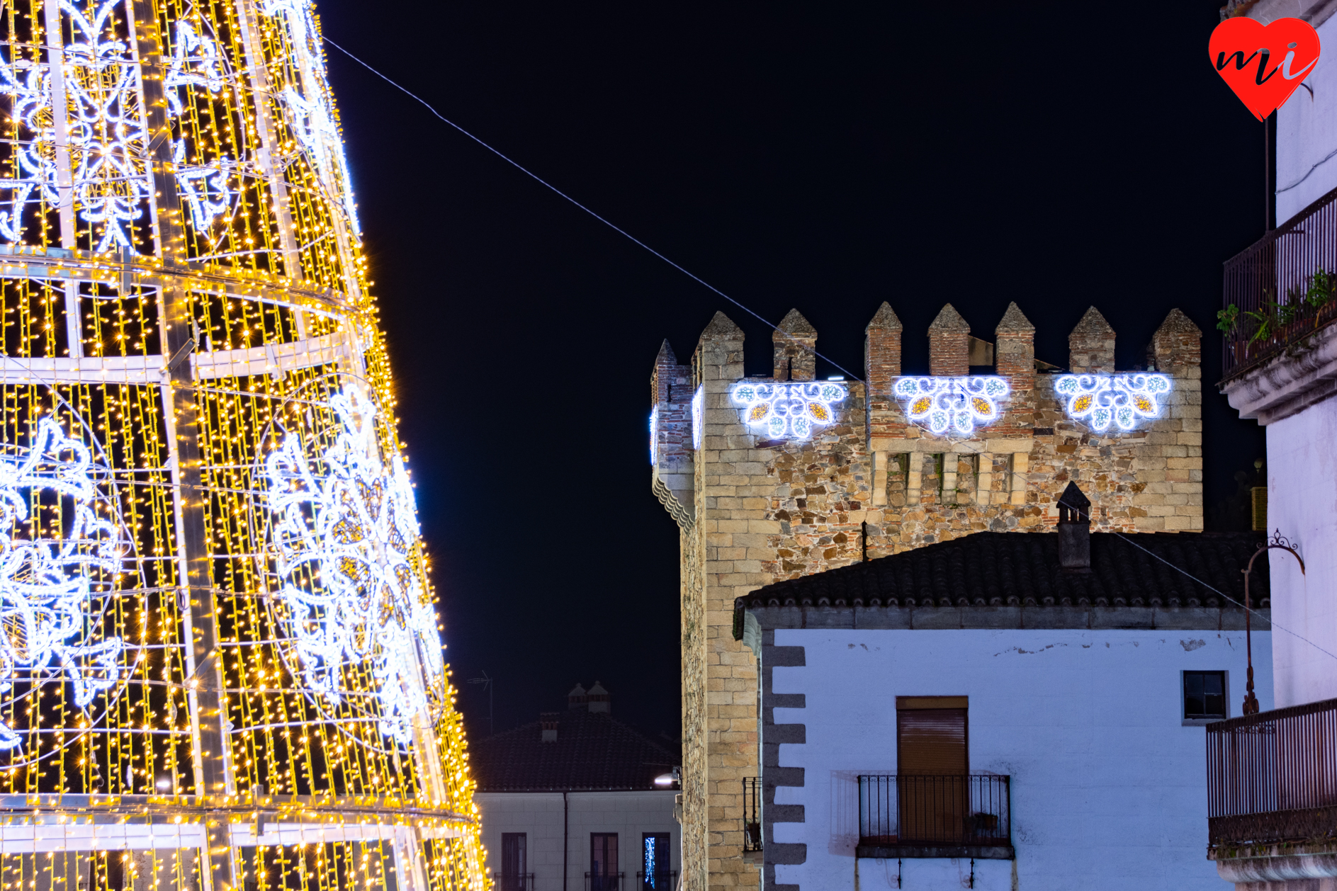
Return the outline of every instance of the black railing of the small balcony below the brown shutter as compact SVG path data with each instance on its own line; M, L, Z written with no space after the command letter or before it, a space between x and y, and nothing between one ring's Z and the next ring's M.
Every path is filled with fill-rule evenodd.
M1011 844L1009 780L995 773L860 776L858 843Z

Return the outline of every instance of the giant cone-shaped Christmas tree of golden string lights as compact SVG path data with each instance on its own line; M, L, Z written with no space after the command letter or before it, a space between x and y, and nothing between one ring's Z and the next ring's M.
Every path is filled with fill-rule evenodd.
M481 891L314 11L0 9L0 891Z

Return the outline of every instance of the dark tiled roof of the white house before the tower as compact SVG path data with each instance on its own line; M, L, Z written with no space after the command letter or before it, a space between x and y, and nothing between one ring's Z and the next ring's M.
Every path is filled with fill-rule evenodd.
M1262 542L1262 533L1251 532L1098 532L1091 534L1091 572L1078 572L1059 565L1058 533L977 532L766 585L738 597L735 606L1229 608L1163 561L1243 602L1241 570ZM1254 562L1249 592L1255 609L1270 605L1265 557Z

